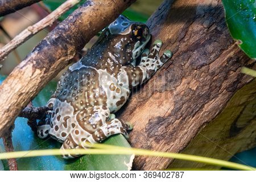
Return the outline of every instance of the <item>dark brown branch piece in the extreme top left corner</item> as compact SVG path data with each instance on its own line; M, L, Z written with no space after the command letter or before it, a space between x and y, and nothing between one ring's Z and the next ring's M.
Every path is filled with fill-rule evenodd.
M23 9L42 0L0 0L0 16L4 16L14 11Z

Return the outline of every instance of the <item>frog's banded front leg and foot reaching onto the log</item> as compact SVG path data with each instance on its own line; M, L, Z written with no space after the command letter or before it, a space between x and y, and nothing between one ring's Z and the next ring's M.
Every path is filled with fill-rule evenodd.
M163 56L159 56L162 41L156 40L149 51L145 49L142 53L141 63L137 67L124 66L118 73L118 83L125 88L132 88L146 82L154 73L171 58L171 51L167 50Z

